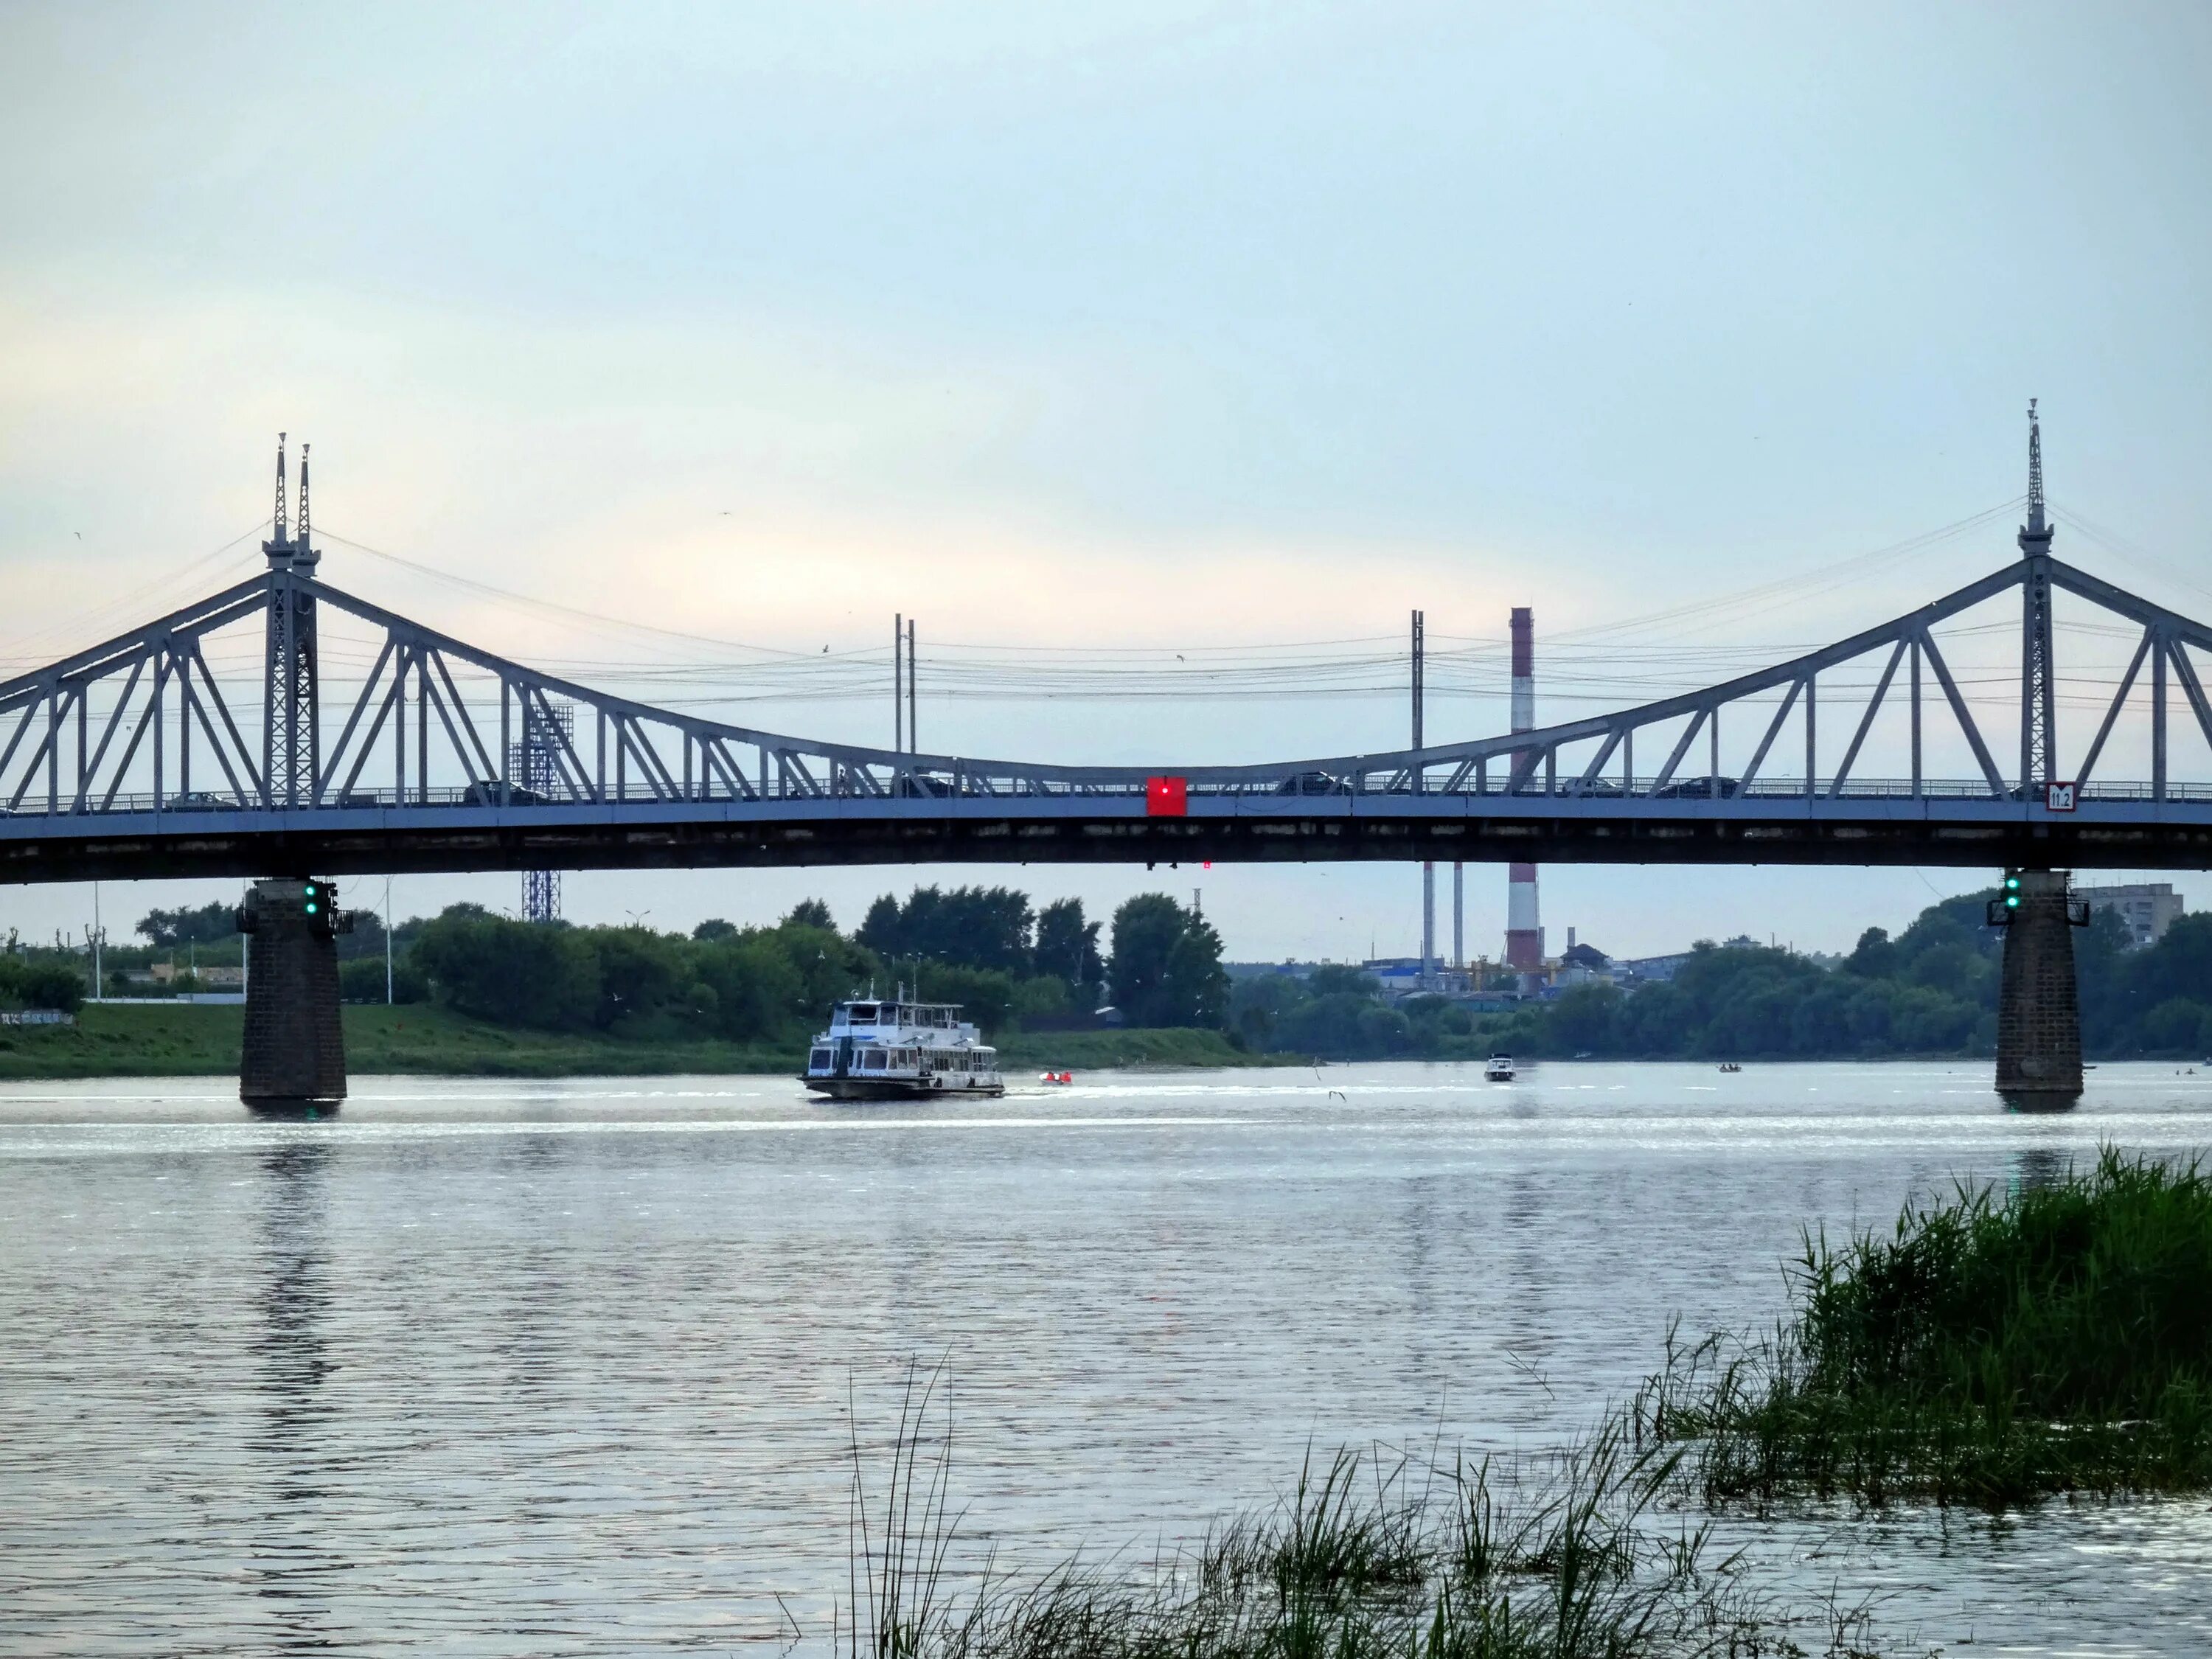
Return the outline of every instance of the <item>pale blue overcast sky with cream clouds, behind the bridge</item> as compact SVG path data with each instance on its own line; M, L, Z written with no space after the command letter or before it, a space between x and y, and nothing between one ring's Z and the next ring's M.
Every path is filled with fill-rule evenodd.
M1626 637L1734 668L2008 560L1995 518L1809 580L2017 495L2028 396L2057 551L2212 615L2208 84L2197 4L4 7L0 659L248 573L217 549L276 429L319 526L604 622L341 544L327 580L617 679L666 655L630 622L843 653L902 611L927 661L1533 604L1542 664L1692 602L1714 626ZM885 701L743 717L887 741ZM1387 695L922 721L1117 761L1405 734ZM1502 721L1471 690L1429 732ZM568 911L852 925L916 878L969 872L584 874ZM1551 869L1544 920L1840 949L1982 880ZM1416 942L1407 869L1175 883L1239 958ZM1469 894L1495 953L1504 872ZM0 927L88 907L9 889Z

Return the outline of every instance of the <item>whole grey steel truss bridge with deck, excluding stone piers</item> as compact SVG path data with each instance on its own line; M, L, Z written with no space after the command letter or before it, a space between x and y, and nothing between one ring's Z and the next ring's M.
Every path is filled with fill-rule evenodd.
M2212 867L2212 768L2192 781L2168 759L2170 734L2212 752L2194 748L2212 745L2197 664L2212 628L2055 560L2031 456L2015 562L1703 690L1380 754L1044 765L699 719L394 615L321 580L305 449L290 529L279 449L263 573L0 686L0 880L1208 858ZM2062 597L2095 622L2055 626ZM2011 692L1991 721L1938 639L2013 602L2017 754ZM372 661L343 684L319 648L338 622L367 633ZM228 630L259 633L257 686L210 668ZM2084 697L2059 633L2132 639L2132 657ZM2068 684L2068 706L2101 712L2062 763ZM2148 737L2146 776L2099 772L2115 732ZM1863 763L1869 734L1882 776Z

